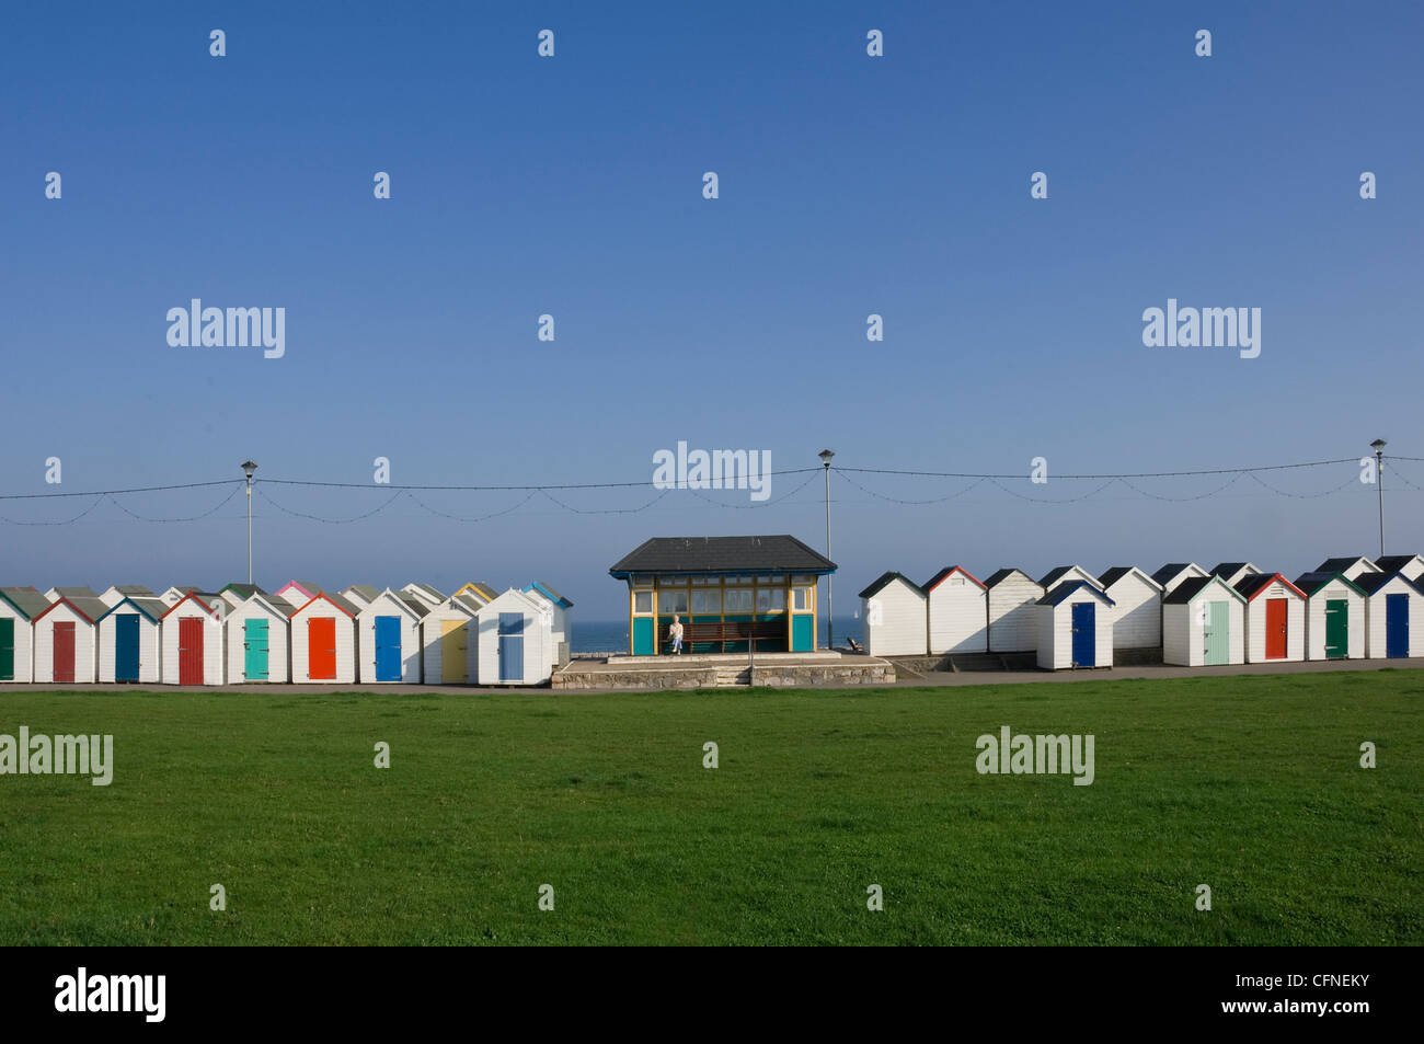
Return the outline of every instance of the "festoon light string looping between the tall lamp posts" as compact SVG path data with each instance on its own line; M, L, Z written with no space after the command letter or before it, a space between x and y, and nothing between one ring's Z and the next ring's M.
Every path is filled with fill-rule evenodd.
M1408 463L1424 463L1424 457L1407 457L1407 456L1390 456L1391 474L1400 483L1401 487L1413 491L1424 491L1417 481L1413 481L1407 474L1398 469L1398 461ZM1000 491L1015 497L1018 500L1027 500L1035 504L1044 506L1067 506L1077 504L1081 501L1092 500L1099 494L1105 493L1109 487L1121 484L1126 490L1141 497L1148 497L1151 500L1169 501L1169 503L1186 503L1195 500L1208 500L1210 497L1226 494L1232 487L1237 486L1243 479L1250 479L1255 486L1262 490L1280 497L1292 498L1316 498L1329 497L1339 494L1351 489L1360 480L1358 473L1360 460L1357 457L1340 457L1336 460L1309 460L1287 464L1259 464L1253 467L1210 467L1210 469L1192 469L1182 471L1124 471L1124 473L1072 473L1072 474L1054 474L1052 481L1072 481L1072 483L1095 483L1092 489L1078 493L1069 497L1044 497L1035 496L1032 493L1034 487L1041 483L1035 480L1031 474L1010 474L1000 471L923 471L913 469L894 469L894 467L836 467L836 473L842 481L847 483L850 487L864 493L867 497L884 501L889 504L896 504L901 507L933 507L936 504L944 504L968 493L977 490L981 486L993 486ZM1317 489L1312 491L1293 493L1286 489L1280 489L1276 483L1267 481L1263 476L1269 476L1273 471L1293 471L1303 469L1329 469L1349 466L1349 474L1339 483L1331 484L1326 489ZM766 500L748 500L745 490L715 490L711 487L703 487L699 484L688 484L686 481L679 481L675 486L656 490L656 494L651 498L639 498L638 503L629 504L627 507L584 507L577 503L571 503L565 496L568 493L580 491L619 491L619 490L648 490L652 483L646 479L629 480L629 481L564 481L564 483L524 483L524 484L424 484L424 486L394 486L387 483L372 484L372 483L352 483L352 481L333 481L333 480L318 480L318 479L219 479L211 481L194 481L194 483L167 483L161 486L137 486L130 489L117 490L85 490L85 491L46 491L46 493L0 493L0 501L44 501L61 497L80 497L93 498L83 511L61 518L40 518L40 520L26 520L14 518L9 514L0 514L0 523L10 526L70 526L78 523L94 513L100 504L108 501L125 516L135 521L144 523L184 523L184 521L199 521L202 518L209 518L216 516L232 498L245 489L249 483L251 487L262 497L266 504L271 504L276 511L281 511L293 518L303 518L308 521L322 523L328 526L345 526L349 523L363 521L373 518L386 513L393 506L399 504L402 500L409 500L422 511L427 514L437 516L440 518L447 518L459 523L483 523L491 518L498 518L503 516L514 514L530 507L531 501L538 498L558 511L578 516L595 516L595 514L639 514L642 511L649 511L659 508L666 510L671 507L669 494L674 491L684 491L693 494L703 506L708 508L722 508L722 510L759 510L768 507L776 507L778 504L809 504L812 500L819 498L800 498L797 494L802 493L812 481L816 480L816 474L822 471L822 467L796 467L782 471L768 471L766 477L772 476L805 476L805 479L793 486L790 490L780 493L776 497L768 497ZM936 481L943 483L944 480L956 480L964 483L960 489L951 493L936 497L901 497L894 496L883 490L874 489L866 481L870 476L883 476L893 480L909 480L914 483ZM1172 496L1168 493L1158 493L1155 490L1146 489L1143 480L1192 480L1202 477L1220 476L1225 479L1220 484L1215 484L1212 489L1200 493L1186 493L1183 496ZM1015 489L1014 484L1028 484L1030 491L1021 491ZM164 517L152 510L138 510L131 507L131 498L134 497L152 497L155 494L184 491L184 490L202 490L209 487L228 486L226 494L211 508L199 513L188 513L181 516ZM292 487L292 489L306 489L313 491L323 490L365 490L365 491L379 491L384 494L382 503L376 504L367 511L357 511L355 514L336 514L323 513L316 510L300 510L290 506L285 496L273 497L276 487ZM500 504L494 510L474 514L460 514L454 511L447 511L429 503L427 498L417 496L420 493L513 493L524 494L523 497L513 497L508 501ZM716 493L723 494L722 498L713 496ZM735 497L728 497L726 494L735 493ZM121 501L120 497L128 498L128 503ZM688 507L686 501L678 506L679 510Z

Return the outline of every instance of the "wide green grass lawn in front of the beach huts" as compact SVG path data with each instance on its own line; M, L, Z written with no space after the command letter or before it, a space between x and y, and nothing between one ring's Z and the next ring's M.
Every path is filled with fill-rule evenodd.
M108 732L115 771L0 776L0 943L1418 946L1421 695L6 692L0 734ZM978 775L1001 725L1092 734L1096 781Z

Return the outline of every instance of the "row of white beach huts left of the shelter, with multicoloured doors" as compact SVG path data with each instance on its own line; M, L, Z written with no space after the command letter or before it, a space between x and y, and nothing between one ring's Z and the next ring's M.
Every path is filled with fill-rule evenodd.
M0 587L0 682L540 685L568 661L571 608L543 581Z

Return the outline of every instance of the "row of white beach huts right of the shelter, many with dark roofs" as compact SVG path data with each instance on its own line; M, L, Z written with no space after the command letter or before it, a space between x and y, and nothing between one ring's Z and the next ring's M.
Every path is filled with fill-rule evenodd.
M1112 667L1128 649L1186 667L1424 657L1417 554L1327 558L1294 581L1252 563L983 581L951 565L924 584L884 573L860 600L866 652L880 657L1035 652L1048 669Z

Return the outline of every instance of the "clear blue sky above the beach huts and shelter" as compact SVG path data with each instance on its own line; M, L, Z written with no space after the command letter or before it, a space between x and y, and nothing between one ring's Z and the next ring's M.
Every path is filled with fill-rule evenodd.
M1424 457L1417 4L288 7L6 11L0 491L226 479L246 457L272 479L369 483L386 456L394 483L651 481L679 439L770 450L778 470L823 446L931 471L1045 456L1051 476L1358 457L1376 436ZM1048 199L1030 199L1034 171ZM191 298L285 308L286 356L171 348L167 310ZM1141 313L1168 298L1260 308L1260 357L1143 348ZM1356 471L1263 479L1313 494ZM1400 476L1424 486L1424 464ZM1357 481L1057 504L985 483L906 506L967 483L849 477L873 493L834 484L842 611L887 568L1249 558L1294 575L1377 550ZM608 618L607 568L649 536L820 547L820 480L800 481L779 476L756 508L674 491L574 514L535 496L457 523L402 498L349 524L276 504L352 517L389 491L269 486L256 580L543 577ZM1388 550L1421 550L1424 493L1390 481ZM1010 487L1067 501L1098 484ZM178 517L224 496L121 503ZM476 517L525 494L419 496ZM0 581L241 580L244 518L239 496L194 523L108 503L0 521Z

